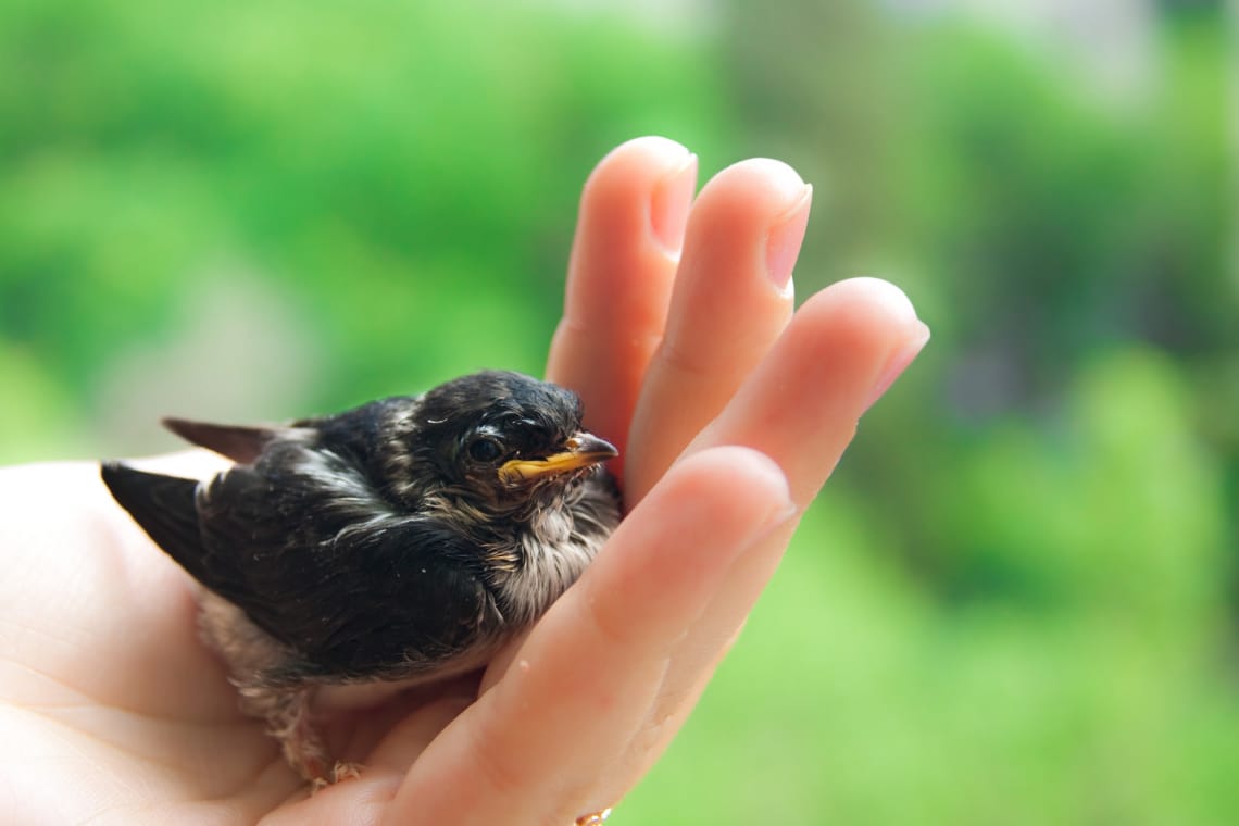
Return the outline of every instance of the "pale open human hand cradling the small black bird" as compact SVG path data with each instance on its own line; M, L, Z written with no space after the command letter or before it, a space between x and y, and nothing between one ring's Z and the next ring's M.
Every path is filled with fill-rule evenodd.
M567 826L622 800L696 703L857 419L928 338L903 293L872 279L793 313L790 285L771 276L790 271L809 209L792 168L745 161L694 199L695 176L665 139L603 159L550 348L546 376L580 391L586 425L621 450L631 514L481 685L336 724L341 757L366 767L357 779L307 796L198 643L188 577L97 466L0 471L0 811ZM219 462L152 464L202 476Z

